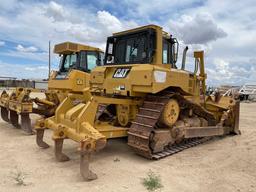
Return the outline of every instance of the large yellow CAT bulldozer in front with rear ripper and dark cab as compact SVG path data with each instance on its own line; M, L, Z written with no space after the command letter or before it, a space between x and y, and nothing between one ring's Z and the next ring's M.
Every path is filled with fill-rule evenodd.
M194 52L193 72L185 70L186 52L178 68L177 39L156 25L113 34L104 66L91 72L91 99L74 102L70 94L37 128L38 138L43 142L44 129L53 130L58 161L69 159L62 153L64 139L78 142L81 175L92 180L90 155L107 139L128 137L137 154L160 159L214 136L239 134L239 102L206 96L204 52Z

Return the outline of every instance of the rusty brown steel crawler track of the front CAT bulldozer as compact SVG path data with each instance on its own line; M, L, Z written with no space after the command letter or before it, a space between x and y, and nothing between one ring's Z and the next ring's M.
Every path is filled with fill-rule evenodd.
M132 122L128 132L128 145L131 146L138 155L148 159L157 160L211 139L210 137L184 139L179 144L173 144L165 147L161 152L152 153L152 149L150 148L151 137L154 130L158 127L157 122L161 116L164 106L170 98L177 99L180 107L192 108L195 114L206 118L210 124L215 124L215 118L211 113L204 110L201 106L186 100L180 95L170 92L158 95L148 95L145 98L143 105L139 108L139 113Z

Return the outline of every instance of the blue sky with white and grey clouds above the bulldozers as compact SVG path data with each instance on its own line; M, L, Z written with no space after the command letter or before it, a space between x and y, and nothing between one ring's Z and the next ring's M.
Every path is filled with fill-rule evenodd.
M46 78L49 40L104 50L113 32L157 24L180 54L189 46L188 68L193 50L205 50L208 84L256 82L255 0L2 0L0 10L0 76Z

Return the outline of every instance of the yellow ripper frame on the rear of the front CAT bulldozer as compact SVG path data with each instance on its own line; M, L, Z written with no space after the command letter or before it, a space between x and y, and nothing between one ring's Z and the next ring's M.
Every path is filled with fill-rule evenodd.
M127 136L127 128L113 127L104 122L95 121L95 114L99 104L115 104L126 106L139 106L142 104L140 99L117 99L102 96L90 97L89 89L85 89L83 95L69 94L59 105L54 117L47 118L42 123L38 123L36 129L50 128L54 131L53 139L70 138L77 142L90 143L97 146L97 142L109 138ZM79 103L74 103L79 100ZM131 107L132 108L132 107ZM134 110L131 110L131 113ZM135 114L129 114L135 116Z

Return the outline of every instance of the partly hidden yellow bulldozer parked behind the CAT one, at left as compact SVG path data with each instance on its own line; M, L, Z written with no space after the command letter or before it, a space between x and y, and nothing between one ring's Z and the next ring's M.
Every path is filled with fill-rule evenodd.
M31 113L45 118L54 115L57 106L68 93L82 92L89 87L91 69L103 62L103 52L100 49L77 43L57 44L54 53L60 55L59 70L51 72L44 99L30 96L37 89L23 87L16 88L10 95L3 91L0 97L2 119L17 128L21 127L28 134L33 134Z

